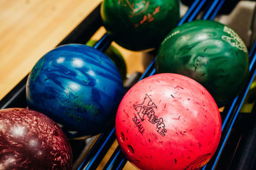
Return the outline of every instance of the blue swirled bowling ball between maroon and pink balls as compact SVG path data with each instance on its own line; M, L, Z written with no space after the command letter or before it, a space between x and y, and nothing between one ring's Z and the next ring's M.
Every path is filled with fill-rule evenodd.
M99 134L114 124L124 86L115 64L87 45L63 45L46 53L29 73L29 108L61 124L68 138Z

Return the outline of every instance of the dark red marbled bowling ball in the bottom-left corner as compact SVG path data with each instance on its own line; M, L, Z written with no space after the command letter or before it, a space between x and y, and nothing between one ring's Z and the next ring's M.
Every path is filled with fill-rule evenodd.
M0 136L0 169L72 169L67 137L42 113L0 110Z

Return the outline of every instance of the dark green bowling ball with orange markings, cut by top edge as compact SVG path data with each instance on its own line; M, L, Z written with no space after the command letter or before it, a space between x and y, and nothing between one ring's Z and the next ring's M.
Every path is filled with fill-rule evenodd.
M179 0L104 0L100 15L107 33L129 50L156 48L179 22Z

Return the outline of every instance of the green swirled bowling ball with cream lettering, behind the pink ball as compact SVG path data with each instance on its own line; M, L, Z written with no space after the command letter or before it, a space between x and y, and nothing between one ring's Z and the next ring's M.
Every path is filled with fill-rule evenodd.
M156 56L157 73L178 73L201 83L219 106L230 103L248 78L248 51L232 29L195 20L173 29Z

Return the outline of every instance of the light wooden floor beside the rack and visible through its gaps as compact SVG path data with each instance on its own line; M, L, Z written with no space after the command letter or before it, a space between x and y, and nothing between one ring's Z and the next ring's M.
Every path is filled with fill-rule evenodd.
M52 50L102 0L0 0L0 99L26 76L42 55ZM104 34L101 27L92 39ZM116 45L127 73L143 72L145 53ZM115 142L113 147L117 146ZM109 151L109 152L113 152ZM108 160L102 160L102 165ZM99 168L100 169L100 168ZM134 169L127 164L124 169Z

